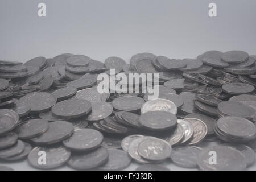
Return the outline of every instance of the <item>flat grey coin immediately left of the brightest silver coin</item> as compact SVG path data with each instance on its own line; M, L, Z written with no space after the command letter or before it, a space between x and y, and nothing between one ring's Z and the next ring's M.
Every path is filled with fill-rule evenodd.
M136 111L141 109L143 104L144 100L136 96L118 97L112 101L114 109L122 111Z

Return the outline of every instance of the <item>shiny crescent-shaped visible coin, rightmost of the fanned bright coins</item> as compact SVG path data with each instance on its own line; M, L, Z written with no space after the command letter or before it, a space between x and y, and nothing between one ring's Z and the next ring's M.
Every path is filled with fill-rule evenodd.
M197 144L205 138L207 135L207 125L205 125L203 121L196 118L185 118L183 121L191 123L191 126L193 127L194 134L188 143L189 145Z

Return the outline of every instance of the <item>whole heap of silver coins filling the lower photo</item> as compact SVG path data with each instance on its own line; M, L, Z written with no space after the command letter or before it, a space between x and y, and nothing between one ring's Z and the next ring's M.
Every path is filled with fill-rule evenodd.
M121 170L132 160L141 171L169 170L163 162L246 169L256 151L255 60L243 51L208 51L183 60L138 53L130 64L71 53L0 61L0 159L38 169ZM117 76L159 73L159 97L99 93L97 77L110 69ZM202 141L219 144L199 147Z

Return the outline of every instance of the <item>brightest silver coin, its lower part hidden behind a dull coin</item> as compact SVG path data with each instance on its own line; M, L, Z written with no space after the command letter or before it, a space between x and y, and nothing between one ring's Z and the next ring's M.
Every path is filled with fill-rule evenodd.
M177 114L177 106L174 102L158 98L145 102L141 107L141 113L147 113L148 111L167 111L172 114Z

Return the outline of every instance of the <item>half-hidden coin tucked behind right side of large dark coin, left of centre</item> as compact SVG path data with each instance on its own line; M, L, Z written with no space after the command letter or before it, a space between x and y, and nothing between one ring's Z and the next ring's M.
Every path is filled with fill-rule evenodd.
M88 121L98 121L112 114L113 107L108 102L91 102L92 112L86 117Z

